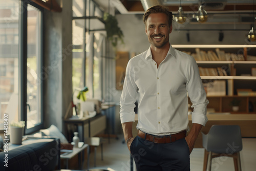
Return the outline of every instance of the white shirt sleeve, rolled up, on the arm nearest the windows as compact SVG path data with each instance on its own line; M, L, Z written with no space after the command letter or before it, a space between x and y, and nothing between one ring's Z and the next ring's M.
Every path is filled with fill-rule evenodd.
M123 91L120 98L120 120L124 122L135 121L135 102L138 97L138 87L134 81L134 70L131 60L128 62L123 83Z

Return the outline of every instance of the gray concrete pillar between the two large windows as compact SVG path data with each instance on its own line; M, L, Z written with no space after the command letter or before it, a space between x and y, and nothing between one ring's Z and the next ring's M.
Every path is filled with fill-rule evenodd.
M57 2L61 13L44 11L44 126L62 130L72 97L72 1Z

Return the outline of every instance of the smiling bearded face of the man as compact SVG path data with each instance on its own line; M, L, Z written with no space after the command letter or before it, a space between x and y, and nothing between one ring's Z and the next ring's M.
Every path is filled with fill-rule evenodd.
M172 25L168 25L168 17L164 13L153 13L147 17L146 35L151 45L162 48L169 42Z

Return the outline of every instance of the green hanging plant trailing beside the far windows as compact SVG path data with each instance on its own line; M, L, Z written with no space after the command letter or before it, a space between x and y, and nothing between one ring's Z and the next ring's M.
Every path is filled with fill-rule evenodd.
M105 21L106 36L112 42L113 47L117 46L118 40L123 44L123 32L118 27L116 17L109 13L105 13L103 19Z

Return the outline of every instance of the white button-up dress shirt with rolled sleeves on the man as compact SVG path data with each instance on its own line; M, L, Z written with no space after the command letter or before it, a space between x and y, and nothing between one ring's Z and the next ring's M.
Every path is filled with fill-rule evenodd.
M195 59L170 45L157 68L149 48L127 64L120 99L121 123L135 121L137 100L137 129L153 135L188 130L187 93L194 107L192 122L205 125L209 102Z

